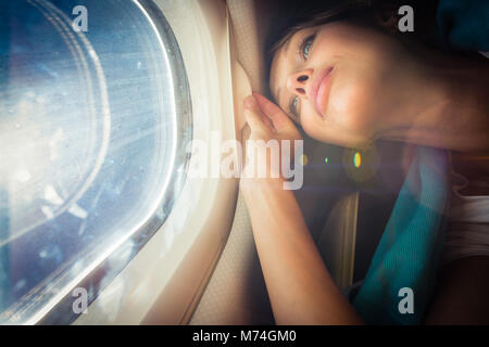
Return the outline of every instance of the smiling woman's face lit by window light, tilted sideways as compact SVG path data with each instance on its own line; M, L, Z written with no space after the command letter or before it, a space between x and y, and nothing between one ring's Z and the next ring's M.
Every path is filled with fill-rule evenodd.
M391 126L403 52L388 34L348 22L305 28L275 53L271 90L312 138L361 146Z

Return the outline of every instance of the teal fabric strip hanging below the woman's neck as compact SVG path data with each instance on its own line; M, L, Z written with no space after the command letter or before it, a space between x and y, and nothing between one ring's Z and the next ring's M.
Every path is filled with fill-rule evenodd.
M444 239L448 156L416 149L392 215L353 306L367 324L418 324L430 297ZM414 313L401 313L399 291L413 291Z

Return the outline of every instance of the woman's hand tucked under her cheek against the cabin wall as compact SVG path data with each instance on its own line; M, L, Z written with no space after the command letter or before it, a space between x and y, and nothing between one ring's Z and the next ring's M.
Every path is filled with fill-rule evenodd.
M291 163L294 152L293 144L294 141L302 140L301 133L280 107L255 92L244 99L244 117L251 130L248 141L255 141L255 145L259 145L260 140L265 143L271 140L276 140L277 147L279 149L278 153L276 151L267 151L266 163L258 163L256 165L259 166L259 170L263 170L263 165L266 165L267 177L279 177L281 160L287 159L289 160L288 163ZM289 156L287 158L284 157L285 153L281 152L283 145L285 145L283 143L284 140L288 140L290 144L288 151ZM278 158L272 157L273 155L278 155ZM278 167L271 165L272 163L278 163Z

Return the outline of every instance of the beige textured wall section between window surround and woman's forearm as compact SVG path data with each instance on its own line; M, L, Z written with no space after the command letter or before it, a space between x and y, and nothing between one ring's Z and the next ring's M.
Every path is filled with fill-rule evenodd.
M190 324L273 324L273 314L241 195L226 247Z

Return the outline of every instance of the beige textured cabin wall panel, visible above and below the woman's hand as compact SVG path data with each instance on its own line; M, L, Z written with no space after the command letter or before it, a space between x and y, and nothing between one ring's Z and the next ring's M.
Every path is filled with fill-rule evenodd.
M238 62L251 88L265 92L265 14L255 1L227 0ZM242 137L246 139L247 127ZM254 245L251 221L239 194L231 231L190 324L273 324L273 313Z

